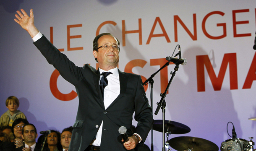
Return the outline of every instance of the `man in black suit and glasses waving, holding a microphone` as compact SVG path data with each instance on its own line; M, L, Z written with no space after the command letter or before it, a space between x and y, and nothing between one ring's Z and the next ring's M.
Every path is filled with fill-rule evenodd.
M29 32L47 61L76 87L79 106L69 151L125 151L143 143L152 128L152 108L141 77L117 68L120 52L118 39L109 33L96 36L93 55L99 62L99 69L89 64L77 67L37 30L32 9L30 16L23 9L21 12L17 11L15 21ZM104 76L106 72L111 74ZM104 89L106 79L108 84ZM138 124L135 133L131 133L134 112ZM120 141L120 126L125 126L128 136L131 136L125 143Z

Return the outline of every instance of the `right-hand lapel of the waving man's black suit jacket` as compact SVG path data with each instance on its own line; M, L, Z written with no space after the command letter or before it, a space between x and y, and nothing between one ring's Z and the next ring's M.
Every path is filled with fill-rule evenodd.
M123 94L125 94L128 76L127 76L124 72L121 72L119 69L118 69L118 73L119 73L119 81L120 81L120 94L119 94L118 97L110 104L109 107L111 107L113 104L115 104L115 102L117 102L118 99L120 99L120 98L123 96ZM107 107L107 108L109 108L109 107Z

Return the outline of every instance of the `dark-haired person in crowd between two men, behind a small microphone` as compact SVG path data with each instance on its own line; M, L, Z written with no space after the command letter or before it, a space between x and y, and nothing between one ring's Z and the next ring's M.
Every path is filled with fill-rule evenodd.
M61 151L60 132L51 130L51 133L47 135L46 143L50 151Z

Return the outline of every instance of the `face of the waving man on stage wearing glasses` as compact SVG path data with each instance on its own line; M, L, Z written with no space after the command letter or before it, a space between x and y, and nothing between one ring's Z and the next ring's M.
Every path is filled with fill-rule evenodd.
M101 36L98 39L98 47L102 45L118 45L118 41L115 39L115 37L110 35L104 35ZM112 46L110 46L109 49L102 49L99 48L98 52L93 51L93 55L95 58L97 58L100 65L113 65L117 66L119 62L119 50L114 50Z

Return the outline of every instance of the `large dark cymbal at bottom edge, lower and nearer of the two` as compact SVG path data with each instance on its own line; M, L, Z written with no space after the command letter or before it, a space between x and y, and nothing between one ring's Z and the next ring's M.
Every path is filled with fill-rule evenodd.
M188 148L193 148L192 151L219 151L219 147L215 143L203 138L181 136L172 138L168 142L177 151L184 151Z

